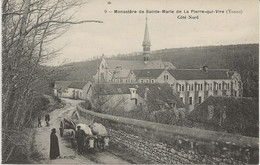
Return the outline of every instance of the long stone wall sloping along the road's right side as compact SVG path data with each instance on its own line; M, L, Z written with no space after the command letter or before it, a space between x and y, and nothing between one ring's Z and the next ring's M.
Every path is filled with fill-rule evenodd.
M77 114L102 123L111 140L153 163L258 163L258 138L122 118L84 110Z

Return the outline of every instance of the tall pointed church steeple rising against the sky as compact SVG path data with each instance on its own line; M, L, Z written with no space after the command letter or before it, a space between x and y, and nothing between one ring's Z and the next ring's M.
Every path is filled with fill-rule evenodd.
M144 62L148 63L149 57L150 57L150 37L149 37L149 31L148 31L148 25L147 25L147 17L146 17L146 24L145 24L145 31L144 31L144 41L143 41L143 58Z

